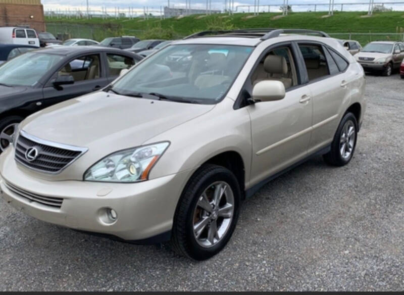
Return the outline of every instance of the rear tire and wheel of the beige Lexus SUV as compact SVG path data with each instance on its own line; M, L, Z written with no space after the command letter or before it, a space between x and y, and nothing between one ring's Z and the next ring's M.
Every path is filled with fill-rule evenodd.
M357 145L358 122L354 114L346 113L339 123L331 143L331 151L323 156L324 161L333 166L349 163Z

